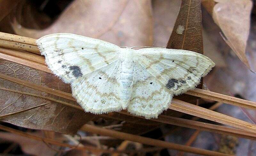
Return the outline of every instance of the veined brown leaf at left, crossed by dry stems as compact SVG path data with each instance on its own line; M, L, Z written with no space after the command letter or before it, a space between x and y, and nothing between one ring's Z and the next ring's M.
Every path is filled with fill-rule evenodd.
M59 78L53 76L52 74L37 71L33 68L10 61L0 60L0 73L33 82L35 84L70 92L69 86L61 82ZM61 99L57 96L40 92L38 90L6 81L4 79L0 79L0 86L21 92L34 93L41 96L52 97L57 100L67 101L66 99ZM93 118L92 114L85 113L81 110L70 108L56 102L45 100L43 98L37 98L4 90L0 90L0 92L0 115L3 116L10 113L16 113L1 120L18 126L32 129L51 130L61 133L76 133L76 131L83 124L87 123ZM74 101L68 102L76 104ZM49 104L21 112L43 103Z

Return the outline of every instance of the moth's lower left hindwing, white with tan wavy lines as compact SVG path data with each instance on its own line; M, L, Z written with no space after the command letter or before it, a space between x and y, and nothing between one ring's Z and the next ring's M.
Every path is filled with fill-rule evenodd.
M116 60L71 83L72 94L85 111L102 114L122 109L120 64Z

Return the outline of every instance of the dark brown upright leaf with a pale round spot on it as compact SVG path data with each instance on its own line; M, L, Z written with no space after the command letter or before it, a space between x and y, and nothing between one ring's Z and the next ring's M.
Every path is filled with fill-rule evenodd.
M201 0L181 1L180 12L166 48L203 54Z

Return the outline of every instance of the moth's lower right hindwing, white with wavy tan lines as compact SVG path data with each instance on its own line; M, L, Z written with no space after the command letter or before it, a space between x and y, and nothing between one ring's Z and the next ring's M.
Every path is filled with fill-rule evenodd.
M168 108L172 96L172 93L142 65L135 65L128 112L147 119L157 118Z

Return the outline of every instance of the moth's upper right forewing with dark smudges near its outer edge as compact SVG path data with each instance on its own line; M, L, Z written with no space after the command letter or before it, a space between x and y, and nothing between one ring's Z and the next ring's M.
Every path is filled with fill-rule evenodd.
M174 95L195 88L215 65L196 52L166 48L140 49L138 60Z

